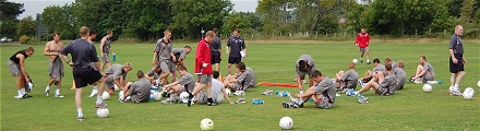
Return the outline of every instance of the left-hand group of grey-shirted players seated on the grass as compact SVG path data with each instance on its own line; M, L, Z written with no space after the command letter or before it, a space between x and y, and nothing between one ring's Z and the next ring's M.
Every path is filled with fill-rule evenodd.
M228 75L219 79L219 73L217 71L213 72L212 79L212 98L216 104L223 103L224 97L228 103L233 104L230 100L227 92L235 92L235 95L244 95L245 91L250 87L255 86L255 74L253 70L247 67L243 62L237 64L237 73L235 75ZM197 81L194 76L188 72L187 68L183 66L177 66L176 70L180 75L180 79L172 81L169 84L161 85L160 75L163 73L159 66L144 73L142 70L136 72L136 82L127 82L127 73L132 70L132 63L127 62L125 64L112 64L106 70L108 76L106 82L106 87L109 88L108 93L110 95L115 94L116 87L119 93L119 100L121 103L133 102L133 103L147 103L152 100L154 93L159 93L163 97L167 97L161 100L163 104L173 104L173 103L187 103L182 100L179 96L183 92L192 93L195 95L195 104L206 104L206 93L203 88L196 86ZM226 91L228 90L228 91ZM96 94L96 88L92 94ZM240 103L240 102L239 102ZM243 99L244 103L244 99Z

